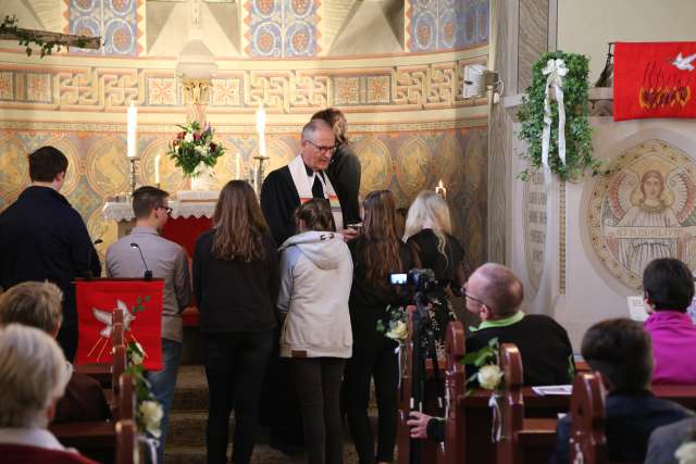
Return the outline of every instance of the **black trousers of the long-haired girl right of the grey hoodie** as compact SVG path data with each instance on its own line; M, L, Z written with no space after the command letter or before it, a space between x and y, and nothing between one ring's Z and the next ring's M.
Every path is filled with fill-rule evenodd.
M399 362L397 343L377 333L376 322L355 321L352 359L346 365L344 396L350 435L360 464L373 464L374 435L368 417L370 380L374 377L377 400L377 462L394 461L396 443Z

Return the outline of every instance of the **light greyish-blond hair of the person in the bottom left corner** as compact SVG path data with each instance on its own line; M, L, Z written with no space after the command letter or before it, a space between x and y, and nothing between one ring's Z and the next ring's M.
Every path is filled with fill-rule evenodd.
M20 324L0 328L0 427L46 427L46 412L63 396L71 376L48 334Z

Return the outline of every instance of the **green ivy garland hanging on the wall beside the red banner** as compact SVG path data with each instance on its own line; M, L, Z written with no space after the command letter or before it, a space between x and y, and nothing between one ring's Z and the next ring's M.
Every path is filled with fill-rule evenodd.
M560 62L559 60L562 60ZM555 64L551 64L554 62ZM592 175L601 172L601 162L593 158L592 127L589 127L589 104L587 98L589 60L582 54L564 53L562 51L545 53L532 66L532 86L526 89L522 98L522 105L518 117L522 122L519 137L526 141L527 151L522 155L531 167L518 174L522 180L530 178L531 170L543 170L544 143L544 99L549 84L548 70L554 66L564 67L561 76L562 101L566 110L566 162L559 156L559 103L555 99L554 88L549 88L550 138L548 141L548 168L558 174L562 180L579 180L587 168ZM562 73L559 73L562 74ZM547 120L548 121L548 120Z

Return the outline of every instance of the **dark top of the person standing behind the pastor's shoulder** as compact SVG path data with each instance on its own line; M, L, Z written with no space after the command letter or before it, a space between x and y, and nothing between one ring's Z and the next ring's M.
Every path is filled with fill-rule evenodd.
M360 223L360 159L348 143L343 143L334 153L326 170L331 184L336 190L340 211L344 213L344 227Z

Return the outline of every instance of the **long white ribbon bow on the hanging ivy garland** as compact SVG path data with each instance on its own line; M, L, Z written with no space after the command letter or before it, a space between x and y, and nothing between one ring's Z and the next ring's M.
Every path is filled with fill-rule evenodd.
M551 139L551 103L549 101L549 89L556 91L558 102L558 158L566 164L566 106L563 104L563 79L568 74L568 67L563 60L549 60L546 67L542 70L546 78L544 89L544 131L542 135L542 164L548 171L548 146Z

